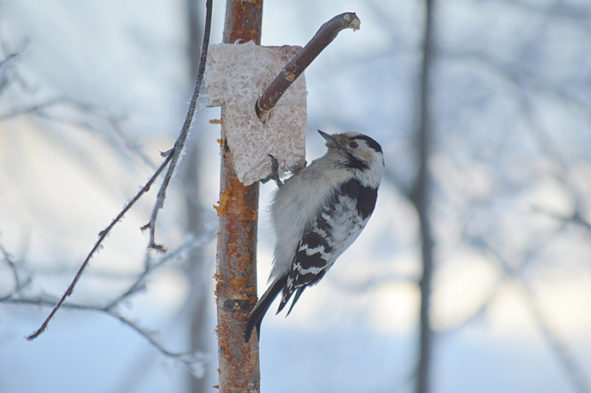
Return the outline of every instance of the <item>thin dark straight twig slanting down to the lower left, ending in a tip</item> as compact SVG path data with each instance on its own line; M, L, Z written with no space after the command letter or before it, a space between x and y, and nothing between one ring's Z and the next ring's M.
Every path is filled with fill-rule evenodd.
M165 153L165 154L167 154L167 153ZM74 276L74 280L72 280L72 283L67 288L66 292L62 295L60 301L57 302L56 306L53 307L53 310L51 310L51 313L49 314L49 316L47 317L47 319L45 321L43 321L43 324L41 324L41 327L39 329L37 329L30 336L27 336L27 340L33 340L33 339L35 339L37 336L39 336L39 334L43 333L44 330L47 329L47 325L49 324L50 320L57 313L57 310L59 310L59 308L64 304L64 301L66 301L66 298L69 295L72 294L72 292L74 291L74 287L76 286L78 280L80 280L80 277L82 276L82 273L84 272L84 270L86 269L88 263L90 262L90 258L92 258L92 256L95 255L95 252L100 248L100 245L106 239L107 235L109 235L109 232L111 232L111 229L113 229L113 226L115 226L115 224L118 223L119 220L121 220L123 218L123 216L125 215L125 213L127 213L128 210L131 209L131 207L134 206L134 204L136 202L138 202L139 198L144 193L147 193L147 191L150 190L150 187L152 186L152 183L154 183L154 181L156 180L156 178L158 176L160 176L160 173L164 170L164 168L168 165L168 163L170 163L170 160L171 159L172 159L172 154L170 154L170 152L168 152L167 157L165 158L164 162L160 165L160 168L158 168L158 170L156 171L156 173L154 173L154 175L150 178L150 180L148 180L148 183L146 183L145 186L142 187L142 189L139 190L139 192L137 194L135 194L135 196L133 197L133 199L131 201L129 201L125 205L125 207L123 208L123 210L121 210L121 212L119 213L119 215L116 216L114 220L112 220L112 222L109 224L109 226L107 228L105 228L104 230L102 230L102 231L99 232L99 239L98 239L98 241L95 243L95 246L92 248L92 250L90 250L89 254L86 256L85 261L82 263L82 266L80 267L80 269L78 269L78 272Z

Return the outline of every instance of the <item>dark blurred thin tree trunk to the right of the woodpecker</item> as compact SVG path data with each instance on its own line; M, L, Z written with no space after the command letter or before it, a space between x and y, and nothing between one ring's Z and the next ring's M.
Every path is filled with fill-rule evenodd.
M433 330L431 330L431 280L433 276L433 238L429 217L430 176L428 161L430 142L433 134L430 88L433 70L433 2L425 0L423 63L418 87L418 135L416 151L418 173L411 200L417 209L421 231L421 254L423 275L419 282L421 293L420 339L417 364L416 392L427 393L430 388L431 357L433 352Z

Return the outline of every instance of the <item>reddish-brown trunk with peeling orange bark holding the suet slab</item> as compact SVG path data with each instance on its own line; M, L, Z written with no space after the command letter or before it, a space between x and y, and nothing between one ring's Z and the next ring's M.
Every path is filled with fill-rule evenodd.
M262 0L227 0L224 43L261 44ZM256 303L256 229L259 184L245 187L236 177L225 143L222 108L220 200L216 207L216 306L219 391L260 391L258 342L244 340L249 311Z

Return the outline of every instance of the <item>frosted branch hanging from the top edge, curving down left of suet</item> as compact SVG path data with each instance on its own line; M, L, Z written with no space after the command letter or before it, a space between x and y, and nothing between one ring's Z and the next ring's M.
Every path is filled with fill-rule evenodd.
M201 59L199 60L199 67L197 69L197 79L195 80L195 85L193 89L193 96L191 97L191 103L189 105L189 111L187 112L187 116L185 118L183 129L181 130L181 134L178 136L176 142L174 142L174 147L171 151L171 161L170 166L168 167L168 171L166 176L164 177L164 181L160 186L160 190L158 190L158 196L156 199L156 203L154 204L154 209L152 209L152 214L150 216L150 222L143 227L143 229L150 229L150 244L148 245L149 248L157 249L161 252L166 252L164 246L156 244L155 242L155 230L156 230L156 219L158 217L158 211L162 209L164 206L164 199L166 197L166 190L168 189L168 184L170 184L171 178L173 178L174 170L181 158L181 153L184 150L185 143L187 141L187 135L189 135L189 129L191 127L191 122L193 121L193 115L195 113L195 108L197 107L197 100L199 99L199 92L201 90L201 85L203 83L203 73L205 72L205 63L207 60L207 48L209 47L209 35L212 28L212 0L206 1L206 14L205 14L205 31L203 34L203 46L201 50Z

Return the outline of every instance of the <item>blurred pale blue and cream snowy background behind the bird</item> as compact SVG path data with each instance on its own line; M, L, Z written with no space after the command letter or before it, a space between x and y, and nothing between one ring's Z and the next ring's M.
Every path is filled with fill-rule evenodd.
M211 42L219 43L224 4L214 3ZM432 391L591 392L591 4L435 3ZM359 129L381 142L388 176L365 232L322 284L287 319L265 319L263 392L413 391L421 265L407 192L417 167L423 2L267 1L262 44L304 45L347 11L361 30L341 33L306 72L307 160L323 154L316 129ZM0 265L0 391L197 386L186 365L106 313L60 310L27 342L49 308L7 301L59 297L97 233L172 146L192 86L189 37L179 0L0 0L0 59L18 53L0 67L0 244L30 279L13 294L12 267L6 258ZM215 226L219 126L208 119L217 118L217 108L197 113L196 153L160 214L157 241L171 250L191 241L191 209L202 206L202 222ZM199 191L186 181L191 165ZM261 186L259 291L274 242L264 209L273 189ZM154 197L116 226L72 302L103 307L134 282ZM204 233L199 279L189 278L190 252L180 252L116 310L183 352L199 299L204 361L193 373L215 392L215 244Z

